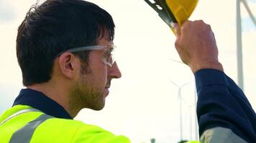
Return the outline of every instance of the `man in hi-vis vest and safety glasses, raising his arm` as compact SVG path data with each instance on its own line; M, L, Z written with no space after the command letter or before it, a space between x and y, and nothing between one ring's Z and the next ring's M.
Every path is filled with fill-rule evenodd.
M255 112L242 91L229 93L224 86L231 79L218 61L210 27L203 21L187 21L175 28L180 58L196 76L202 142L212 142L219 135L211 131L230 131L230 139L254 142ZM17 35L17 58L27 89L22 89L14 106L1 115L0 141L130 142L127 137L73 120L83 108L102 109L111 79L121 77L111 55L113 39L111 16L95 4L48 0L32 7ZM230 86L238 90L234 83ZM225 99L232 100L233 95L242 98L235 104L239 107L227 107L232 103ZM232 112L222 112L224 109ZM241 125L239 119L243 119Z

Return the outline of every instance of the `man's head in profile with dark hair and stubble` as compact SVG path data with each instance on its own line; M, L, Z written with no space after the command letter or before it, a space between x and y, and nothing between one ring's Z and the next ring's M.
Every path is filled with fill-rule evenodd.
M94 97L96 92L106 94L105 87L111 79L121 77L121 73L115 63L109 66L102 60L96 62L96 56L99 59L110 56L107 49L113 39L113 19L95 4L81 0L47 0L40 6L32 6L17 34L17 59L24 86L45 84L61 75L73 85L70 95L85 94L84 98L89 100L93 97L87 94ZM67 51L93 45L105 46L105 49ZM104 106L104 103L101 107L93 107L96 103L83 104L93 109Z

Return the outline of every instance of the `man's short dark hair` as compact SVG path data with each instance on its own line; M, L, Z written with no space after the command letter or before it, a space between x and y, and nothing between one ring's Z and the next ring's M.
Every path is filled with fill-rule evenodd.
M48 82L55 56L66 49L114 39L114 21L96 4L47 0L27 12L17 34L17 59L24 86ZM88 52L78 55L88 60Z

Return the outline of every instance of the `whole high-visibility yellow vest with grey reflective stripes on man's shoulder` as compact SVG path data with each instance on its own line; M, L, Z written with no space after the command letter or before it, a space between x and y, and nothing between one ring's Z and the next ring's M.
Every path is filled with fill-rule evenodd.
M16 105L0 117L1 143L119 143L130 142L101 127L73 119L51 117L29 106Z

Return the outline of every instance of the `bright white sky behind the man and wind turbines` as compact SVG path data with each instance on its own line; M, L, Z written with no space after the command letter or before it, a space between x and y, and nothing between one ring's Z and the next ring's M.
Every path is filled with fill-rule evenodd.
M36 0L0 0L0 113L12 106L22 88L15 40L17 28ZM180 119L178 89L182 86L183 139L195 137L193 74L175 51L175 36L157 13L140 0L91 0L109 11L116 24L114 43L122 79L114 80L106 107L100 112L83 109L76 119L96 124L133 142L178 142ZM256 0L247 0L256 14ZM226 74L237 82L236 1L199 0L190 20L211 24ZM244 92L256 109L256 27L242 6ZM192 125L190 127L190 122ZM192 132L192 135L191 135Z

